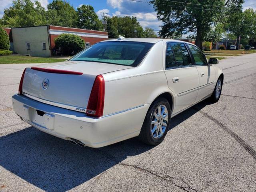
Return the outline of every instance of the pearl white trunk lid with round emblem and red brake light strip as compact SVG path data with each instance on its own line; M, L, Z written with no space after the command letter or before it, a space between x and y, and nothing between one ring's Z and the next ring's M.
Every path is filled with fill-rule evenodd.
M22 94L47 104L85 112L97 75L132 68L96 62L60 62L27 68Z

